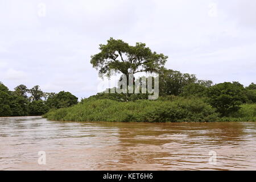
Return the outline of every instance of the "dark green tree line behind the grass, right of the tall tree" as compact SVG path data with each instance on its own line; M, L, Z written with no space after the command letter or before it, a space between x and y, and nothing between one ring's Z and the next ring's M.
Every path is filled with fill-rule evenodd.
M240 82L213 85L210 80L198 80L195 75L164 69L159 79L160 96L197 97L208 102L222 117L237 112L242 104L256 103L256 84L244 87Z

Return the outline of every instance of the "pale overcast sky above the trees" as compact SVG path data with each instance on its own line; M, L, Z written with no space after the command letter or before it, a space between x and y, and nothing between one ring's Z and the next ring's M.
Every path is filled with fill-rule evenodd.
M0 81L89 97L102 82L90 56L113 37L167 55L168 69L247 86L255 9L255 0L0 0Z

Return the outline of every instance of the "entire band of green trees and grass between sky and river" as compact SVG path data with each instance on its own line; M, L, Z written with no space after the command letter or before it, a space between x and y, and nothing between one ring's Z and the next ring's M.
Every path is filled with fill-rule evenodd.
M123 73L127 76L126 84L136 83L129 73L159 73L158 100L148 100L148 93L102 92L78 103L69 92L44 93L39 86L27 89L24 85L11 92L1 83L0 116L44 114L52 120L108 122L256 121L256 84L213 85L210 80L164 68L167 58L151 51L146 44L129 46L122 40L110 38L108 44L101 44L100 52L92 56L92 66L100 76Z

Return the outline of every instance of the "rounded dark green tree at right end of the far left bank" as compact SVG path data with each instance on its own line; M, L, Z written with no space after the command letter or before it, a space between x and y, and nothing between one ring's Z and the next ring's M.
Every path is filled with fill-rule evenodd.
M50 108L60 109L77 104L78 98L73 96L70 92L59 92L58 94L50 96L46 101L46 105Z

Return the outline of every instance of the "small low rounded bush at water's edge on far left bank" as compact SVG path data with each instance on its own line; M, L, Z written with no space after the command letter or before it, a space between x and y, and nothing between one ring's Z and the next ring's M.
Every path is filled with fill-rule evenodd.
M48 112L49 107L42 100L39 100L30 102L28 109L30 115L43 115Z

